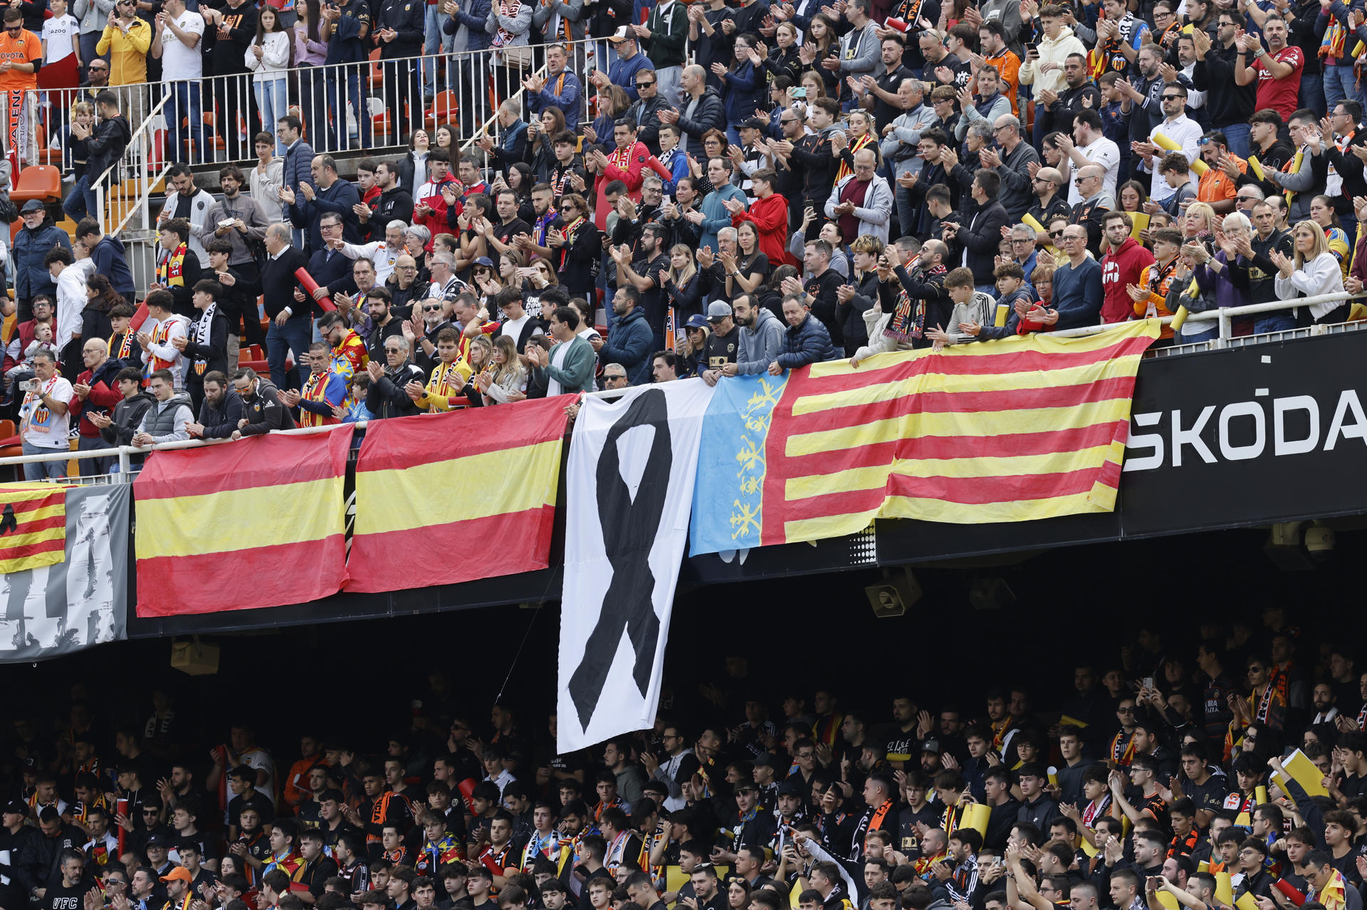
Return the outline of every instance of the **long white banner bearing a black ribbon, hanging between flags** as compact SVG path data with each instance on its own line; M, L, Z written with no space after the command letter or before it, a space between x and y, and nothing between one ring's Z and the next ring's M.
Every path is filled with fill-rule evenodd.
M703 415L700 378L588 398L566 469L559 727L567 754L655 723Z

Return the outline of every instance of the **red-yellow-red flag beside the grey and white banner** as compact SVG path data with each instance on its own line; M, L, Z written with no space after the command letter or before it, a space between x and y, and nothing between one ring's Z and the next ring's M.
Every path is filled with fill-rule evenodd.
M351 425L153 452L133 484L138 616L280 607L346 581Z

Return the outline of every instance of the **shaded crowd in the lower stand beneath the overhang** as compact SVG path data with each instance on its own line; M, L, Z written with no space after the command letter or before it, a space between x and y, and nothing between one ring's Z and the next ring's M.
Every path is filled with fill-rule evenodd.
M1360 907L1367 672L1281 607L1200 633L1058 663L1047 708L980 682L805 690L729 657L696 697L667 683L688 720L574 754L554 715L485 723L443 672L365 724L297 713L275 756L168 689L123 724L75 685L8 731L0 906Z

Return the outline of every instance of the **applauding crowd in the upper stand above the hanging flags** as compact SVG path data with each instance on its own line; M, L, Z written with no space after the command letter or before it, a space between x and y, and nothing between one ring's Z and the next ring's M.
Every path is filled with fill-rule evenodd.
M72 18L63 5L11 7L0 51ZM40 202L16 212L4 385L26 454L857 365L1356 294L1367 269L1360 3L96 0L72 12L89 82L62 137L74 238ZM518 78L477 79L496 119L461 145L454 126L405 126L420 97L461 83L459 66L387 72L377 90L409 150L316 153L346 148L328 141L346 104L323 104L329 126L310 101L316 82L346 79L319 67L376 46L383 60L487 51ZM198 77L253 71L264 87L246 113L221 108L232 128L205 127L238 161L217 171L219 193L171 167L156 279L134 287L92 187L139 126L120 86L141 85L149 61L167 109L186 105L170 118L175 154L200 142ZM40 66L8 64L0 85ZM141 302L148 318L131 328ZM1233 332L1353 316L1316 299ZM1174 320L1158 344L1217 331ZM267 369L242 366L243 343L264 346Z

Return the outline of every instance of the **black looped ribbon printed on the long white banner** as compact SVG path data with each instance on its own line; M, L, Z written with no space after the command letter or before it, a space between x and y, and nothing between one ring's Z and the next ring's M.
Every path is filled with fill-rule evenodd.
M630 429L651 426L655 439L641 471L636 499L622 480L618 439ZM608 430L597 465L597 508L603 526L603 549L612 564L612 581L603 594L597 624L584 644L584 657L570 676L570 698L588 730L597 709L603 685L626 629L636 650L632 676L645 695L655 667L655 645L660 620L655 615L655 575L651 573L651 548L660 532L664 496L668 492L674 450L670 445L670 415L664 392L647 389L633 400L626 413Z

